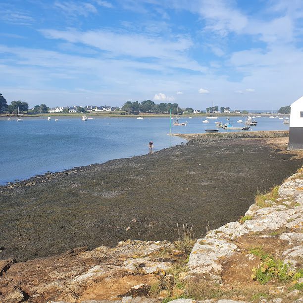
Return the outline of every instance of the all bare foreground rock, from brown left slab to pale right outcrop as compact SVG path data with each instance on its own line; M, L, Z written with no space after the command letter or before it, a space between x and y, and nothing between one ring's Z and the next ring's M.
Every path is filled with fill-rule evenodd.
M265 202L270 206L251 205L246 220L225 224L198 239L182 280L205 281L207 285L231 289L239 283L258 287L251 279L251 269L260 261L247 252L253 247L270 249L291 270L302 268L303 174L287 179L279 187L278 198ZM101 246L92 251L77 248L19 263L14 259L1 260L0 302L161 302L160 297L148 297L151 285L166 275L180 253L168 241L128 240L119 242L115 248ZM269 299L259 302L303 302L301 290L289 290L274 283L267 289ZM248 299L238 294L219 301L172 302L232 303Z

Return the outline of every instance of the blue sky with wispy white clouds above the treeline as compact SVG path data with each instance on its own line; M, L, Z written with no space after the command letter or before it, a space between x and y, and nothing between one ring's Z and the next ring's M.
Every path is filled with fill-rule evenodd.
M0 93L271 109L303 95L302 0L1 1Z

